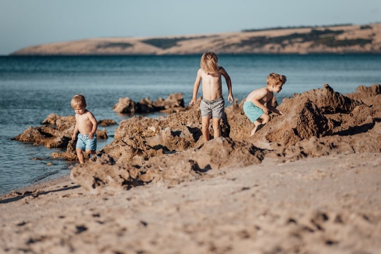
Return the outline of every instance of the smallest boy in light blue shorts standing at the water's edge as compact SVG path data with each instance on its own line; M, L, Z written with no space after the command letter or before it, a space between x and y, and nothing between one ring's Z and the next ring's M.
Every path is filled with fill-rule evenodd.
M97 150L97 134L95 132L98 124L93 114L86 109L86 99L83 95L74 95L71 99L71 107L75 112L75 127L71 138L76 139L78 134L75 150L79 163L82 164L84 163L83 151L87 154L95 154Z

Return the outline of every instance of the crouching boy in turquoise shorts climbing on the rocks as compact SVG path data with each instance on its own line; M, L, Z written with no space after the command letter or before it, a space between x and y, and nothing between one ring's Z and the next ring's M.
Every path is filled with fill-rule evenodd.
M272 72L267 76L266 87L256 89L246 97L244 112L249 120L254 123L254 128L250 132L250 136L254 135L259 125L266 124L270 121L270 116L268 115L270 111L278 115L283 115L282 112L271 105L271 102L274 96L273 93L279 93L280 90L282 90L282 85L284 85L286 81L286 76Z

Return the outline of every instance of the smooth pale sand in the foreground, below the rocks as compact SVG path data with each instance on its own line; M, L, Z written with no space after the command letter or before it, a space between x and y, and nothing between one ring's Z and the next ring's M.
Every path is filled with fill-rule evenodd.
M0 198L1 250L377 253L379 165L381 153L265 158L174 186L100 194L62 177Z

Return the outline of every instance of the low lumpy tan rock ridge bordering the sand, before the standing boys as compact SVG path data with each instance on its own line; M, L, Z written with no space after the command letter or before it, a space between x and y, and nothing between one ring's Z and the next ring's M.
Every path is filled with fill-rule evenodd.
M164 183L168 186L203 177L209 170L259 164L263 150L246 141L219 137L200 149L183 153L130 160L122 156L117 162L108 154L94 157L71 170L70 178L92 193L121 191L131 186Z

